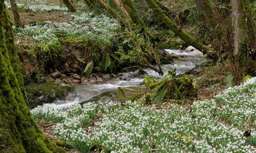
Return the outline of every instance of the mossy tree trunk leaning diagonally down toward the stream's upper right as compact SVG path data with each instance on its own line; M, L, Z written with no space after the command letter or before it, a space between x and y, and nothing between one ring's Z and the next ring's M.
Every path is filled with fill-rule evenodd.
M211 56L214 52L211 50L208 46L199 43L198 40L193 38L191 35L188 33L184 32L184 30L178 28L178 26L171 21L171 19L166 16L165 12L163 9L161 9L155 0L146 0L147 5L153 9L153 11L156 13L156 15L170 28L176 35L178 35L181 39L183 39L186 43L189 45L192 45L196 49L200 50L201 52L208 54Z

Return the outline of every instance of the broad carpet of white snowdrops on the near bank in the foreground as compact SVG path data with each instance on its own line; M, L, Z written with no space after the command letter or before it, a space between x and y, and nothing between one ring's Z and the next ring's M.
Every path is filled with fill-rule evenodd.
M154 109L127 101L105 108L74 105L67 111L38 106L32 114L56 121L58 139L82 152L95 144L102 152L256 152L256 78L191 107ZM96 114L100 120L88 126Z

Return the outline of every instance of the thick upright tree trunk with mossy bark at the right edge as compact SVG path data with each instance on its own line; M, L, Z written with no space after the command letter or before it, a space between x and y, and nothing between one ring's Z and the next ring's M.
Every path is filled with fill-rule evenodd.
M249 0L232 0L233 54L230 57L235 84L242 77L255 75L255 32Z

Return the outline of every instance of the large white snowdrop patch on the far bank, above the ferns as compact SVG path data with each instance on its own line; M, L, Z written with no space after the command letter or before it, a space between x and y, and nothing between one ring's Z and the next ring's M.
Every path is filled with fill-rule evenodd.
M57 37L57 34L60 33L68 37L97 41L105 45L110 44L119 24L104 15L92 17L92 14L73 15L73 22L46 21L35 26L26 25L24 29L18 30L17 35L19 38L32 39L47 47L60 43Z

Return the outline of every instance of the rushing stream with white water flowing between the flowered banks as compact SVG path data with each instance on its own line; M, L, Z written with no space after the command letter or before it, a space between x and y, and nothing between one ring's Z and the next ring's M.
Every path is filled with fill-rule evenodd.
M176 74L184 73L186 70L195 68L197 65L206 62L206 59L199 51L187 51L187 50L173 50L165 49L166 54L175 55L173 64L163 64L161 68L163 72L166 73L168 69L176 69ZM66 109L71 105L77 103L84 103L88 100L93 100L96 96L100 96L99 101L112 100L111 93L114 93L119 87L129 87L129 88L142 88L144 85L143 80L146 75L151 75L156 78L161 78L161 76L151 69L144 69L147 74L139 74L136 72L126 72L119 73L113 80L99 81L99 82L88 82L86 84L80 84L75 86L75 91L69 93L64 100L55 100L50 104L43 104L43 108L60 108ZM135 77L136 76L136 77ZM104 93L108 93L105 96Z

